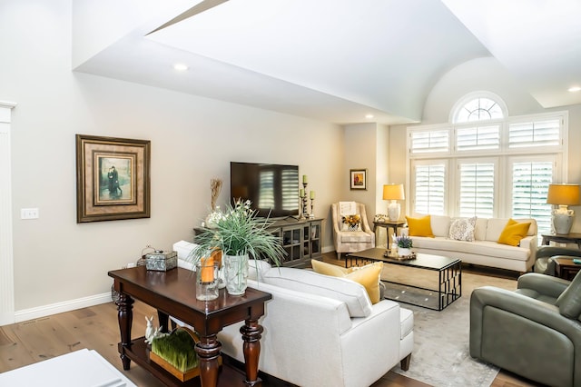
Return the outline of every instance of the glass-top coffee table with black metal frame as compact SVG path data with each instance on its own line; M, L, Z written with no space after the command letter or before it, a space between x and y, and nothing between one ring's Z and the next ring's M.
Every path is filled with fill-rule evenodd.
M404 277L406 277L405 274L412 277L414 273L419 273L419 271L431 271L438 274L438 280L431 280L429 275L427 278L428 282L438 281L437 289L432 289L430 284L421 286L412 284L410 281L382 280L387 287L385 298L389 300L441 311L462 296L462 261L459 259L418 253L415 259L404 261L386 257L385 253L385 249L369 249L359 253L349 253L345 258L345 266L382 262L399 265L400 272L404 273Z

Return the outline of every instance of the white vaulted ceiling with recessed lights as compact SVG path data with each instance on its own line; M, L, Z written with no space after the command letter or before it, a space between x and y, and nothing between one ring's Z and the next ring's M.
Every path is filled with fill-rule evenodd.
M338 124L405 124L448 70L492 55L542 106L581 103L567 91L581 86L577 0L121 3L73 2L74 71Z

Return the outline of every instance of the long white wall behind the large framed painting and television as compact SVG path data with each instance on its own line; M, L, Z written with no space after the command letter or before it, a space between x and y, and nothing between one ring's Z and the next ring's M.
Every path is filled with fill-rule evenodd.
M0 4L0 100L12 120L15 310L108 293L109 270L149 243L192 239L210 207L210 180L228 200L230 161L298 164L315 214L341 199L337 125L71 71L71 1ZM152 142L152 217L76 223L74 134ZM360 166L360 165L358 165ZM21 220L21 208L40 218ZM332 246L324 223L324 247Z

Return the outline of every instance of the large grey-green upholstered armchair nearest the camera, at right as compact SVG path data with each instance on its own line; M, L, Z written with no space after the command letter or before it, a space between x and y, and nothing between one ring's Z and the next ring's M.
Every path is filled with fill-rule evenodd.
M470 356L551 386L581 385L581 275L539 273L470 298Z

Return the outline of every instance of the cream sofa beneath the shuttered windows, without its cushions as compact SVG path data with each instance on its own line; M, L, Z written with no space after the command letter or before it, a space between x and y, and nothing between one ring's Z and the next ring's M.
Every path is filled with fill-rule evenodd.
M458 258L463 263L473 263L521 273L529 272L535 264L537 252L537 222L534 219L515 219L531 223L528 233L518 246L497 243L508 219L477 218L474 241L449 239L449 228L454 218L431 215L430 224L435 237L411 236L412 251ZM404 229L404 233L407 232Z

